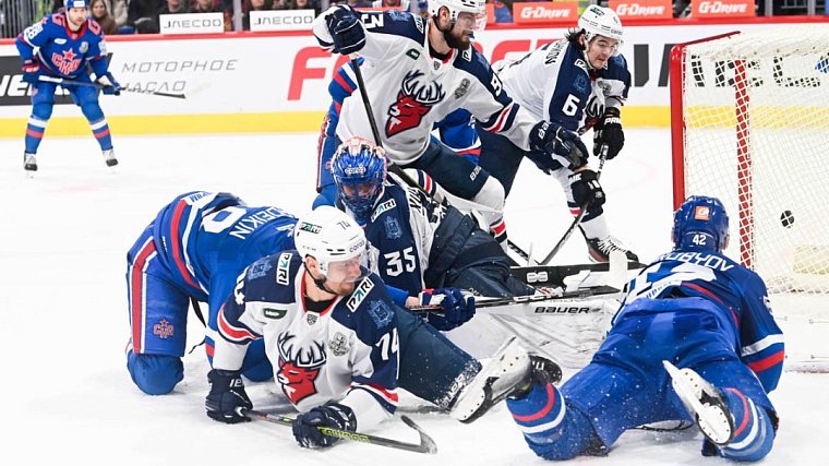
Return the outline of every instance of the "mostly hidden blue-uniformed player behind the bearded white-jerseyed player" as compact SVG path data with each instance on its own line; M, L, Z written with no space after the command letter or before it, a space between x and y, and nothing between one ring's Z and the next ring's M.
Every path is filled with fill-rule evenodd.
M362 63L363 59L359 58L357 61ZM331 159L336 148L341 144L337 138L337 122L339 121L343 101L357 89L353 65L348 62L337 69L334 79L328 84L332 104L320 129L316 148L316 192L319 195L314 199L314 208L320 205L334 205L337 199L334 178L331 175ZM481 153L481 142L474 128L472 116L462 108L447 115L434 126L434 129L438 131L440 142L477 165L478 156ZM431 178L422 171L419 171L418 175L418 178L423 178L421 182L423 189L428 192L434 192L435 187Z

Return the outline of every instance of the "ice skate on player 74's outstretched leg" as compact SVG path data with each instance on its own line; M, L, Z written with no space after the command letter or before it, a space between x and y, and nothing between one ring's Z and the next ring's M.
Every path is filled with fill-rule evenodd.
M507 396L526 392L531 383L530 356L513 336L460 392L449 416L461 422L472 422Z

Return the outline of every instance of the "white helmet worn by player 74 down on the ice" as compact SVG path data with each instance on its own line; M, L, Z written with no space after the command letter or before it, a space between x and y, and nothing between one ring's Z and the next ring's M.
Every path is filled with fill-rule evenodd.
M364 254L369 241L363 229L345 212L322 205L299 218L293 227L293 242L304 259L312 255L320 271L328 274L332 263L346 262Z

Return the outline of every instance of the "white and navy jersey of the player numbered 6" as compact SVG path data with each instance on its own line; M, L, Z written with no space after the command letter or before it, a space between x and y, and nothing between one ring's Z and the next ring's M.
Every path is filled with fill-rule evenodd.
M507 94L536 119L579 133L592 127L605 105L622 106L630 87L623 56L611 57L597 70L567 39L546 44L517 61L498 61L493 68Z

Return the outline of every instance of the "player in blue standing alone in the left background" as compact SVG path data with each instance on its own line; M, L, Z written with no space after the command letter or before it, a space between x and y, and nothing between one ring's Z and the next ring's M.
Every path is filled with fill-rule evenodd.
M88 16L88 0L64 0L64 12L47 15L23 31L15 40L23 60L23 81L32 85L32 116L26 127L23 168L37 171L37 147L51 118L55 92L60 85L81 107L100 145L108 167L118 165L112 136L98 104L98 89L91 86L91 68L105 94L119 95L121 85L108 70L107 46L100 25ZM51 80L51 81L49 81ZM55 81L65 80L62 83ZM75 85L71 82L89 84Z

